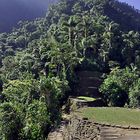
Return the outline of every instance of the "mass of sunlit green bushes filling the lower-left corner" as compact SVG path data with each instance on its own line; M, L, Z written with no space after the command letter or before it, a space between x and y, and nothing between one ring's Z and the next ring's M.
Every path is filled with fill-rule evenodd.
M1 139L45 139L51 121L48 102L39 86L33 79L5 84L2 92L5 100L0 108Z

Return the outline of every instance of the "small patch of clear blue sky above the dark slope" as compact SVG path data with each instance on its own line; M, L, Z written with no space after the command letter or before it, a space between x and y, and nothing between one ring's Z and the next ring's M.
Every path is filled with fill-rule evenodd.
M134 6L136 9L140 10L140 0L119 0L121 2L126 2L129 5Z

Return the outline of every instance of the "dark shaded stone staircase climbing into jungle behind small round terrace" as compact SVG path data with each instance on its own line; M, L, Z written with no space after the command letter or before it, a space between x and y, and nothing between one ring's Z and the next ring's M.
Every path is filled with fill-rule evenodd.
M79 85L77 87L78 96L88 96L100 98L99 86L102 83L102 73L94 71L79 71Z

